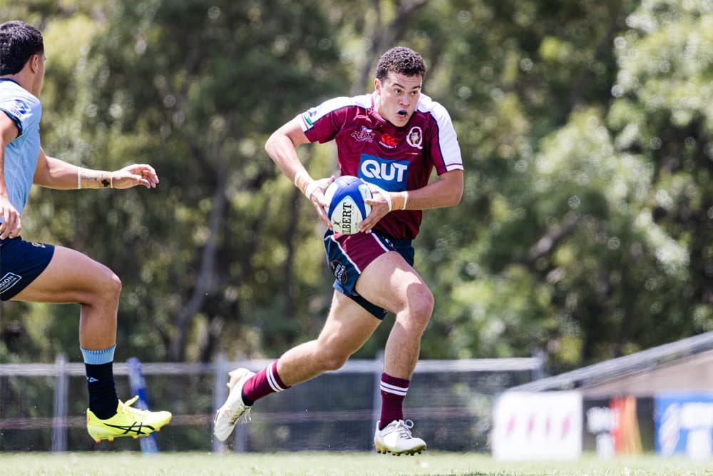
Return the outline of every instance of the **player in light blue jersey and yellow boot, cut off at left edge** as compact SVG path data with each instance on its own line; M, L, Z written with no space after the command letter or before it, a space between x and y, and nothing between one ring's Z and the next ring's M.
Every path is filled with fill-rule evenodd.
M112 371L121 282L105 265L78 251L20 237L22 211L33 184L61 190L153 188L151 166L96 171L46 156L40 144L45 74L41 33L23 21L0 24L0 299L78 303L79 345L87 375L87 430L96 442L148 436L169 412L138 410L121 402Z

